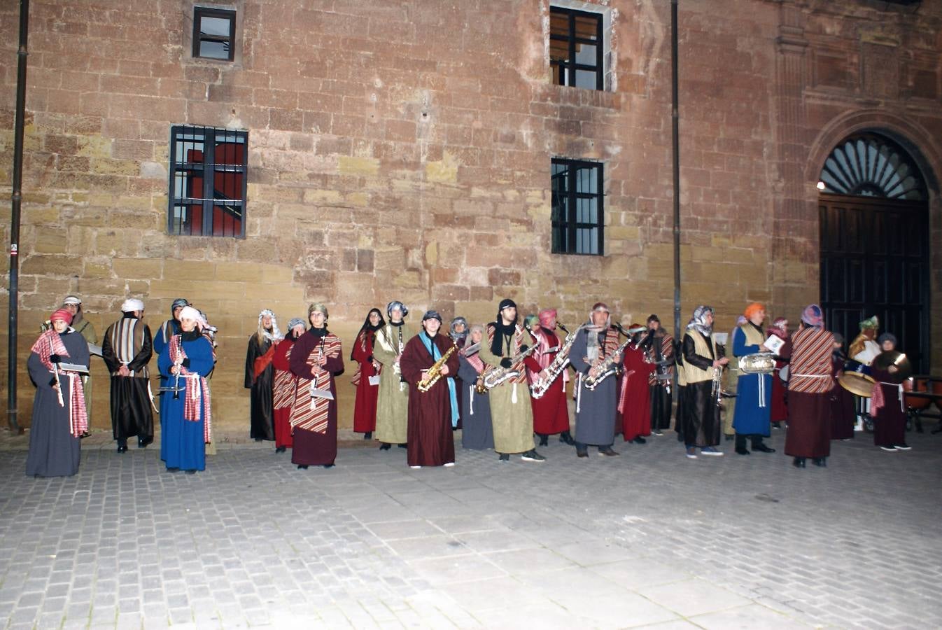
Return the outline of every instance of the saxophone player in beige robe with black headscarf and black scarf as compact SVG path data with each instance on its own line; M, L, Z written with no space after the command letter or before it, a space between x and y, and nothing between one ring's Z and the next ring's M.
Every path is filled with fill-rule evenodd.
M509 461L512 453L520 453L524 461L543 461L533 447L533 411L527 386L526 368L514 357L532 344L529 333L517 325L517 305L502 299L497 306L495 321L487 325L487 338L481 341L479 357L491 367L519 370L519 375L504 380L490 390L491 421L494 428L494 450L500 461Z

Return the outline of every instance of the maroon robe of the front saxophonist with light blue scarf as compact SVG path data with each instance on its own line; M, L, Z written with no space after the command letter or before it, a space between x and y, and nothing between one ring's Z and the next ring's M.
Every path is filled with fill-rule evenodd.
M448 378L458 374L458 351L448 357L447 377L443 376L428 392L419 392L416 384L422 380L422 370L435 363L420 331L402 350L399 368L402 378L409 383L409 427L407 460L410 466L441 466L455 460L455 443L451 432L451 394ZM426 337L428 339L428 337ZM445 356L453 346L447 335L436 334L432 342Z

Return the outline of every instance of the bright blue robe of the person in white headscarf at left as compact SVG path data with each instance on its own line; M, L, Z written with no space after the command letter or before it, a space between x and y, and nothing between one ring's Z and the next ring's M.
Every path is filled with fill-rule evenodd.
M206 377L213 369L213 347L205 337L200 336L193 341L183 342L183 351L189 358L190 372L196 372ZM171 375L170 344L163 347L157 359L160 374L169 384L174 381ZM183 385L183 379L180 379ZM205 424L205 409L201 407L200 420L193 422L183 419L184 397L187 393L180 392L180 396L173 397L172 392L164 392L161 398L160 420L163 435L160 440L160 459L167 463L168 470L179 468L181 470L205 470L206 453L203 438L203 425Z

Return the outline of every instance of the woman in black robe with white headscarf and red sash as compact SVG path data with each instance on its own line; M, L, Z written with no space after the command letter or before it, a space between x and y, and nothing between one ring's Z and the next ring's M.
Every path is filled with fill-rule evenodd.
M271 366L274 345L282 340L275 314L268 309L258 314L258 330L249 337L245 353L245 388L252 390L250 437L255 442L275 439L271 387L275 368Z

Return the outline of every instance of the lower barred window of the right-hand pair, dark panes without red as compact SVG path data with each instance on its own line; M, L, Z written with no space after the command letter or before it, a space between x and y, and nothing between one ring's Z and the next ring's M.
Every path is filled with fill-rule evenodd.
M605 254L602 164L553 158L553 253Z

